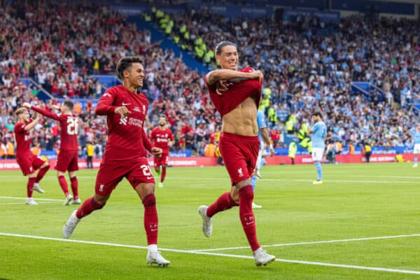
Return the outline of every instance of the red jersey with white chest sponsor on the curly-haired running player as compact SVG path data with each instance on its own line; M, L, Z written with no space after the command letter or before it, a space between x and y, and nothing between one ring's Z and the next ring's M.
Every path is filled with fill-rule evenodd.
M115 113L120 106L125 106L131 113L127 116ZM110 87L102 94L95 113L106 115L108 124L103 161L123 162L146 157L146 149L151 151L151 143L143 128L147 111L147 97L141 92L130 92L123 85Z

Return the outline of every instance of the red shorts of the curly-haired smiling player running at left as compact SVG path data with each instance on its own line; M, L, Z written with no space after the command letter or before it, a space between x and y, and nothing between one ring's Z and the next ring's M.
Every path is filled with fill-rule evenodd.
M139 183L155 183L151 167L145 158L133 162L101 162L94 192L98 195L111 195L123 178L127 178L133 188Z

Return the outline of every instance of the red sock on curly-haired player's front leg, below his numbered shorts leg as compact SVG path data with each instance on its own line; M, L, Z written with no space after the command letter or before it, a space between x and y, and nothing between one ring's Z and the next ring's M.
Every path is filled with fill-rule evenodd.
M144 197L143 205L147 244L158 244L158 211L156 211L155 195L151 194Z

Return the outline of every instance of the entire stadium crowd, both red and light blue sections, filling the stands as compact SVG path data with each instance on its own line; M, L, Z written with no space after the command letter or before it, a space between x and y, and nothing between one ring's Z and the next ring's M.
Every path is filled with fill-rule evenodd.
M172 50L152 43L150 31L137 30L124 15L91 4L40 1L37 6L20 6L17 1L14 5L2 10L6 16L0 19L0 137L6 152L13 144L15 109L25 101L41 107L57 103L38 100L38 90L20 83L20 77L32 78L55 97L98 97L104 89L90 76L114 73L116 61L125 55L145 58L144 92L151 102L146 130L151 131L165 114L176 150L190 148L203 155L204 146L218 140L220 117L204 78ZM56 11L54 17L50 10ZM201 38L206 50L211 50L218 41L233 41L241 53L241 66L265 73L261 109L275 146L283 147L288 132L308 123L314 108L325 114L329 141L341 141L344 146L363 141L374 146L412 143L408 130L416 115L409 104L420 99L419 22L373 22L360 17L343 19L339 25L299 17L291 22L233 20L208 10L169 18L174 21L171 36L181 35L180 44L195 46ZM160 19L153 15L152 20ZM183 25L189 38L180 33ZM351 80L369 81L383 93L351 94ZM100 157L106 124L94 116L92 103L87 104L83 109L75 106L83 122L80 150L91 142ZM287 129L288 121L293 122L293 130ZM58 135L58 125L44 119L35 132L34 146L57 148Z

